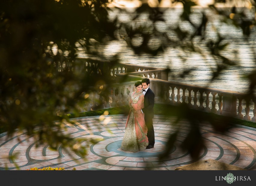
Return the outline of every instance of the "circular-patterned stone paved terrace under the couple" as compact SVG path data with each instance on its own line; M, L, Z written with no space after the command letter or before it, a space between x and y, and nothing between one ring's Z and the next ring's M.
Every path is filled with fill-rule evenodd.
M106 117L81 117L73 119L76 125L66 123L66 133L74 138L95 139L96 144L89 144L88 155L82 159L74 154L75 160L61 147L52 151L48 146L36 148L33 137L26 133L16 133L7 139L6 133L0 134L0 170L26 170L33 167L45 166L65 167L76 170L174 170L177 167L192 163L187 152L180 148L181 140L189 131L189 124L181 120L171 124L174 117L155 115L155 148L136 153L119 149L124 135L125 115L110 115ZM179 140L163 162L158 161L158 154L163 151L168 134L178 127L181 129ZM219 134L208 123L201 123L201 133L205 141L201 160L214 159L248 170L256 170L256 129L238 126L229 129L225 134ZM86 143L86 142L83 142ZM17 154L12 160L11 156Z

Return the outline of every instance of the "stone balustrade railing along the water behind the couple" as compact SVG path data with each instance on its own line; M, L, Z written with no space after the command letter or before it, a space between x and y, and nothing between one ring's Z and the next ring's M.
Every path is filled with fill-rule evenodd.
M96 93L90 95L92 102L82 109L88 111L103 103L102 108L127 105L131 93L135 91L134 83L142 78L150 78L150 88L155 93L156 103L171 105L187 104L190 108L205 112L237 117L256 122L256 97L247 97L244 93L220 90L189 84L167 81L168 71L153 67L115 64L111 68L106 61L79 58L84 63L83 70L90 68L105 68L109 75L116 79L109 88L109 96L102 97ZM128 75L127 75L128 73ZM126 75L127 82L118 83Z

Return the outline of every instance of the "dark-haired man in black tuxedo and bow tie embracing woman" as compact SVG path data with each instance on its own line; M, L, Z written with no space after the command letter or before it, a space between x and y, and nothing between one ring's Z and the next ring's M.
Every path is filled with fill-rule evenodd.
M141 82L143 88L142 93L144 94L144 108L142 108L142 112L145 114L145 124L148 127L148 146L146 149L150 149L154 148L155 145L155 132L153 127L155 94L149 88L150 80L148 78L142 79ZM139 112L141 112L141 110L137 111L137 113Z

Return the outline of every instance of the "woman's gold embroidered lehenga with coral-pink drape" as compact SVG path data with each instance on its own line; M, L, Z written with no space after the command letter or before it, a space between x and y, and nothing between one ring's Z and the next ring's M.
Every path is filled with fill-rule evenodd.
M120 149L124 151L137 152L145 150L148 146L147 132L144 114L137 114L136 110L144 108L144 95L142 92L133 92L129 101L130 112L128 114L125 133Z

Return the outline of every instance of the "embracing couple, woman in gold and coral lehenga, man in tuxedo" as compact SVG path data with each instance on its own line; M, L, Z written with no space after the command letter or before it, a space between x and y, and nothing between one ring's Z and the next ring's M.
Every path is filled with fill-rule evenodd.
M153 127L155 94L149 88L150 80L142 79L135 83L129 101L130 112L126 120L125 133L120 149L137 152L154 148L155 133Z

